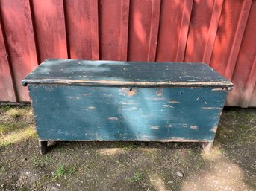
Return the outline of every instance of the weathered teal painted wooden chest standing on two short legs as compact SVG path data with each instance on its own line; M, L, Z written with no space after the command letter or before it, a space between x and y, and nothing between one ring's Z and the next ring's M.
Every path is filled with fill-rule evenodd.
M28 85L40 140L212 146L232 83L204 63L46 59Z

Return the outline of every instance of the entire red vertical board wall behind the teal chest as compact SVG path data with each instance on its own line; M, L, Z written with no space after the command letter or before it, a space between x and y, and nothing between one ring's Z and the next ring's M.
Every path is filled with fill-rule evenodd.
M256 106L256 0L0 1L0 101L46 58L205 62Z

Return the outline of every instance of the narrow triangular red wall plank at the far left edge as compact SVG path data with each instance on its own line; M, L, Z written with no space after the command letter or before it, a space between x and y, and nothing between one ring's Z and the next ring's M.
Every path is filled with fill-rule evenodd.
M10 70L10 59L8 59L8 51L4 38L4 29L0 16L0 100L16 102L16 94Z

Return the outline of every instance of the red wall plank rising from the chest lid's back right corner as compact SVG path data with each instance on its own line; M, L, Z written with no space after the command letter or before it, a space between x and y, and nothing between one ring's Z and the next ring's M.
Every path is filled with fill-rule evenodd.
M216 18L218 14L216 11L219 11L219 14L221 12L219 0L216 1L194 1L190 19L190 31L187 38L185 62L203 62L206 49L208 48L208 51L210 51L212 48L210 43L213 46L215 39L214 30L217 30L219 22L219 19ZM215 23L212 23L214 21ZM207 53L209 54L208 51Z

